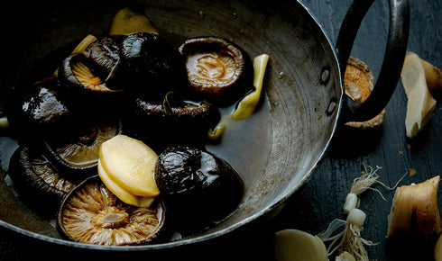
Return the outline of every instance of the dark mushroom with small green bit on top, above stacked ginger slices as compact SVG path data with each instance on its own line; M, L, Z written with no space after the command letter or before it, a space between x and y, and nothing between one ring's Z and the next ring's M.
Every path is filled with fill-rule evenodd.
M129 103L126 114L124 128L153 147L202 144L208 129L220 119L214 104L183 100L178 93L165 95L162 103L138 97Z

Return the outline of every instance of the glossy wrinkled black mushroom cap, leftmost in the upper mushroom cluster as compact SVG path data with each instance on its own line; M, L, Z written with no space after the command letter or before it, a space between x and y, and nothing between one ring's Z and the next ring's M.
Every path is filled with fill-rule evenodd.
M57 135L72 121L72 107L55 77L16 88L7 106L11 132L27 140Z

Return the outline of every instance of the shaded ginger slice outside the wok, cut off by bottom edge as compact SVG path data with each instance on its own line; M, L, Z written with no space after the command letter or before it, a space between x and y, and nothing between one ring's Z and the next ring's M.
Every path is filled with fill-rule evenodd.
M278 261L327 261L327 248L318 236L298 229L275 233L275 257Z

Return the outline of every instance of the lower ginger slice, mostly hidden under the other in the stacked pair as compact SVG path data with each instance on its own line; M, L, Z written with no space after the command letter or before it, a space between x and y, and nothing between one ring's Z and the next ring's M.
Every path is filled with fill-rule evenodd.
M155 197L141 197L136 196L133 193L127 192L120 185L116 184L106 173L105 168L101 165L101 162L98 160L98 175L101 178L101 181L106 185L106 187L115 194L117 198L119 198L122 202L126 204L130 204L133 206L147 208L152 205L152 202L155 200Z

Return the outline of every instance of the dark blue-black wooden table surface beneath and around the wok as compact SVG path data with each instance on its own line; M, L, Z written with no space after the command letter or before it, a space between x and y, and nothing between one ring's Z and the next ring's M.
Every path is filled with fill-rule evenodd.
M303 0L322 24L331 40L336 42L340 24L351 0ZM437 67L442 67L442 1L410 0L409 50L419 54ZM360 58L371 67L375 76L379 73L388 31L389 7L387 1L375 1L366 15L355 41L352 56ZM165 259L188 260L272 260L272 238L279 229L302 229L316 234L331 220L345 219L342 206L345 195L355 177L361 174L364 164L382 166L378 172L380 180L394 185L402 175L416 170L416 175L407 175L401 184L420 183L431 176L442 174L442 105L437 104L428 126L415 139L405 135L405 112L407 99L401 82L387 106L385 123L375 131L341 131L336 135L327 155L318 165L308 184L295 193L285 208L273 220L244 228L226 238L220 238L203 246L177 249L160 253ZM344 134L345 132L345 134ZM351 139L350 139L351 138ZM361 209L367 214L362 236L379 242L366 247L371 260L431 260L431 253L422 253L422 248L397 247L387 240L387 216L391 208L393 191L377 185L386 201L373 191L361 196ZM439 189L439 198L442 189ZM442 200L439 200L442 206ZM7 236L6 236L7 235ZM53 249L41 242L27 241L17 235L6 234L0 229L0 260L25 260L45 258L88 257L124 258L131 260L127 253L74 252L69 249ZM126 259L127 258L127 259ZM151 259L150 253L139 257ZM116 259L114 259L116 260ZM154 260L153 258L151 260ZM159 260L159 259L157 259Z

